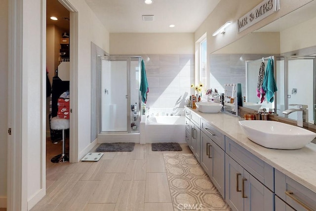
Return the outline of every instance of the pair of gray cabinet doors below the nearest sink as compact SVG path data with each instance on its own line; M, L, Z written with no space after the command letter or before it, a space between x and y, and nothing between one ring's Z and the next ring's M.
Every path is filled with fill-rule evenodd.
M274 193L226 154L226 201L233 211L273 211Z

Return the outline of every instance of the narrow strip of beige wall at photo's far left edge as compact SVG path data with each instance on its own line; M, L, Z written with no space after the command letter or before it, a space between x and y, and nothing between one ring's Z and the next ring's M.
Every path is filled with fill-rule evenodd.
M8 104L8 0L0 6L0 208L6 207Z

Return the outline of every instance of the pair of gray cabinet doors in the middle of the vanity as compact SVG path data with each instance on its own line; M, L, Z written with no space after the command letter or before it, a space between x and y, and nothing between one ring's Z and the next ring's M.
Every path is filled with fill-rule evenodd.
M201 166L225 198L225 152L201 131Z

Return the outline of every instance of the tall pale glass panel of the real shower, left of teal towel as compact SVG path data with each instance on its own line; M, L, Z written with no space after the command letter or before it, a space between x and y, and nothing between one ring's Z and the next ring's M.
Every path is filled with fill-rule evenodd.
M101 60L102 131L127 132L127 60Z

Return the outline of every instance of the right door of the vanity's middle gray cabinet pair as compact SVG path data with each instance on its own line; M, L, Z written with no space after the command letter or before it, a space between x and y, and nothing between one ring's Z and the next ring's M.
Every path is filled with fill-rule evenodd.
M214 141L208 145L211 159L210 178L217 190L225 198L225 152Z

